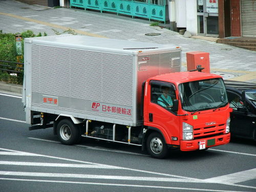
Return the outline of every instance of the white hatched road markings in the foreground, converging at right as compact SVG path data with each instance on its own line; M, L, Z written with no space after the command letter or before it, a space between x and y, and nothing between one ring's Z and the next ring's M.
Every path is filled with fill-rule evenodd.
M47 155L40 155L40 154L33 154L33 153L27 153L27 152L20 152L15 150L8 150L6 148L0 148L2 152L0 152L0 155L24 155L24 156L37 156L37 157L47 157L47 158L53 158L58 160L66 160L71 162L76 162L76 164L72 163L40 163L40 162L19 162L19 161L0 161L0 165L20 165L20 166L46 166L46 167L68 167L68 168L109 168L109 169L123 169L125 171L134 171L144 174L154 174L159 176L166 176L166 177L130 177L130 176L115 176L115 175L88 175L88 174L65 174L65 173L35 173L35 172L12 172L12 171L0 171L0 175L3 176L30 176L30 177L59 177L59 178L86 178L86 179L106 179L106 180L133 180L133 181L158 181L158 182L183 182L183 183L221 183L225 185L230 186L239 186L239 187L246 187L246 188L252 188L256 189L256 187L253 186L246 186L246 185L239 185L235 183L247 181L256 179L255 169L245 170L244 172L229 174L225 176L215 177L215 178L209 178L209 179L196 179L196 178L189 178L189 177L183 177L183 176L177 176L177 175L171 175L171 174L163 174L163 173L157 173L157 172L150 172L147 170L140 170L140 169L133 169L133 168L126 168L126 167L120 167L120 166L112 166L112 165L106 165L106 164L99 164L99 163L93 163L88 161L79 161L79 160L73 160L73 159L67 159L67 158L60 158L60 157L54 157L54 156L47 156ZM80 164L77 164L80 163ZM250 176L246 176L250 175ZM231 178L231 179L230 179ZM19 179L12 179L12 178L0 178L0 180L19 180ZM24 180L25 181L25 180ZM52 180L31 180L28 181L37 181L37 182L55 182ZM57 181L60 182L60 181ZM71 182L72 183L72 182ZM79 183L79 182L78 182ZM85 184L88 182L80 182L81 184ZM94 183L96 184L96 183ZM112 185L112 184L110 184ZM120 185L121 186L121 185ZM133 186L133 185L127 185L127 186ZM136 186L136 185L134 185ZM138 185L138 187L146 187L146 185ZM152 186L148 186L151 187ZM154 187L153 187L154 188ZM161 187L160 187L161 188ZM168 188L168 187L167 187ZM176 188L176 187L170 187L170 188ZM185 188L180 188L185 189ZM188 188L186 188L188 189ZM195 189L190 189L195 190ZM211 190L211 189L197 189L198 191L226 191L226 190Z

